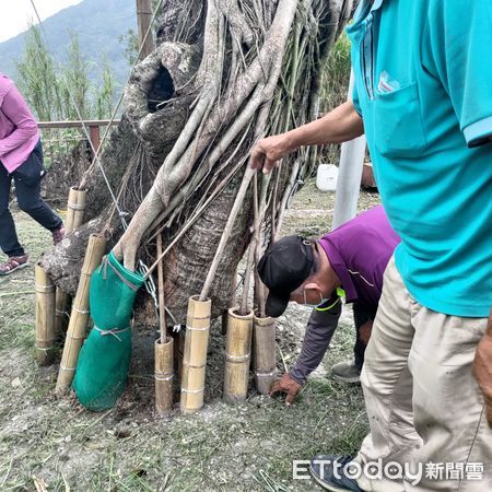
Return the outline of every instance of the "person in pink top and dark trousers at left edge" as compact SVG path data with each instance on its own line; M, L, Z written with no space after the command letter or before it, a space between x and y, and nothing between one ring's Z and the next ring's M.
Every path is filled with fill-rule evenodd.
M0 263L0 276L28 263L9 210L12 180L21 210L51 232L54 244L65 236L62 220L40 198L44 175L43 148L34 116L12 80L0 73L0 248L8 256Z

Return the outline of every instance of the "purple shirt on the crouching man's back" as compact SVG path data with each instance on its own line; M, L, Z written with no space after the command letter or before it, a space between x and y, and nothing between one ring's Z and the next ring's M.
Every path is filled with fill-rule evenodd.
M348 303L377 309L386 270L400 238L383 206L374 207L319 239Z

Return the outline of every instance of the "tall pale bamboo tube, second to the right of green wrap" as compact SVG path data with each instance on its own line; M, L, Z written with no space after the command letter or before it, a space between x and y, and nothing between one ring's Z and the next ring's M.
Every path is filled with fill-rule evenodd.
M200 301L198 295L191 296L188 301L183 356L181 413L195 413L203 407L211 307L210 300Z

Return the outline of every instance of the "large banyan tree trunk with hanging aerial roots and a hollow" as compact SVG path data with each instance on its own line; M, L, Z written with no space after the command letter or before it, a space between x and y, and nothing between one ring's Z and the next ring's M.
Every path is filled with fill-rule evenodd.
M92 233L104 233L129 269L155 260L162 233L166 306L184 323L243 183L246 195L209 292L212 315L227 308L255 222L258 230L261 220L265 247L296 181L316 163L316 150L302 149L245 186L249 150L262 136L318 116L327 59L355 3L164 1L156 47L132 70L121 122L101 154L106 178L94 162L73 184L87 189L84 223L44 257L55 284L74 294Z

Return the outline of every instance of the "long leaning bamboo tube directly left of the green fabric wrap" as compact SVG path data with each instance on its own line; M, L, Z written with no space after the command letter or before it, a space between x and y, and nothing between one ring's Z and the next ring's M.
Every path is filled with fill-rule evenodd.
M67 340L61 356L60 370L58 372L56 386L56 393L58 395L63 394L70 387L75 373L80 348L85 338L89 323L89 289L91 276L101 263L105 250L106 239L92 234L85 251L79 288L77 289L67 331Z

